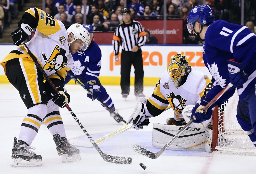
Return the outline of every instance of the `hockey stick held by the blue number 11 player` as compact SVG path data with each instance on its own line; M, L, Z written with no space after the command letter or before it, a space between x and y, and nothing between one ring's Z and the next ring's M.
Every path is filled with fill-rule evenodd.
M218 100L223 94L225 94L225 92L227 92L227 90L229 88L231 88L233 85L231 83L229 83L224 89L222 89L222 91L220 91L220 93L214 97L202 110L205 111L207 110L216 100ZM152 158L152 159L156 159L157 157L159 157L186 129L188 126L190 126L190 124L192 124L193 119L191 119L176 135L174 135L174 137L158 152L154 153L154 152L150 152L147 149L135 144L133 146L133 150L139 154L142 154L146 157Z

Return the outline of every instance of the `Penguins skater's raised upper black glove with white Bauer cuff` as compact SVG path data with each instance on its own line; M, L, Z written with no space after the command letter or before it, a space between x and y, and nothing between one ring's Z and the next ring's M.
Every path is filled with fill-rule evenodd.
M13 44L17 46L24 42L28 38L28 35L30 35L34 30L34 27L30 27L31 24L29 25L29 22L26 22L27 24L21 23L21 21L18 22L19 28L11 33Z

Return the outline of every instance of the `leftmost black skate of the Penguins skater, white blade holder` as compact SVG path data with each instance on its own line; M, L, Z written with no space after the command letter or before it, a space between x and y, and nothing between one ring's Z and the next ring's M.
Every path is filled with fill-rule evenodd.
M34 147L28 146L24 141L18 141L14 137L13 153L11 167L40 167L42 166L42 156L36 155L29 149L35 150Z

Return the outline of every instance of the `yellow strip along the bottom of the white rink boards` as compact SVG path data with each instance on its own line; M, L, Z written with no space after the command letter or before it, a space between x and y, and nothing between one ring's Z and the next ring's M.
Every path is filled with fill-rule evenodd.
M102 85L120 85L121 77L115 76L100 76L100 83ZM144 86L155 86L159 77L144 77ZM131 85L134 85L134 77L130 77ZM0 75L0 83L10 83L6 75ZM75 81L71 79L68 84L75 84Z

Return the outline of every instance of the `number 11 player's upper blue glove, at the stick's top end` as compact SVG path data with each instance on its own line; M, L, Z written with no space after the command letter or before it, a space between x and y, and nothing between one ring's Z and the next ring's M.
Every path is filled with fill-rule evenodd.
M243 88L243 84L247 82L248 75L244 73L244 69L246 65L234 62L234 59L227 60L228 64L228 71L229 71L229 79L230 82L236 88Z

